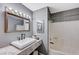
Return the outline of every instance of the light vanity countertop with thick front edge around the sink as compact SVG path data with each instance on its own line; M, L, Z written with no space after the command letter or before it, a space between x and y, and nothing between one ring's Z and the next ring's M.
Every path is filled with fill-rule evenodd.
M0 49L0 55L30 55L34 52L40 45L42 40L37 40L36 42L30 44L24 49L18 49L12 45Z

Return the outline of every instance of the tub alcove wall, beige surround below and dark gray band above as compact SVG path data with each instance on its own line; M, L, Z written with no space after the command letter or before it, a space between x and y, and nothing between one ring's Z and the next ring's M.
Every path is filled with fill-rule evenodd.
M50 47L66 54L79 54L79 8L53 13L49 22Z

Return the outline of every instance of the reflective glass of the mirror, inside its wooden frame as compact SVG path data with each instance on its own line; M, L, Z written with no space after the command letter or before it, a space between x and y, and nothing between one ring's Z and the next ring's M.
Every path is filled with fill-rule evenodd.
M17 31L29 31L30 30L30 21L29 19L23 19L17 16L8 15L8 30L7 32L17 32Z

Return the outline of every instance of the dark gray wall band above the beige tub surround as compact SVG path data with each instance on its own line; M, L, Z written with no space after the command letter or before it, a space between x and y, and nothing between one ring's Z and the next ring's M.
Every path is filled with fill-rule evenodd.
M63 21L76 21L79 20L79 8L70 9L67 11L53 13L51 15L51 20L53 22L63 22Z

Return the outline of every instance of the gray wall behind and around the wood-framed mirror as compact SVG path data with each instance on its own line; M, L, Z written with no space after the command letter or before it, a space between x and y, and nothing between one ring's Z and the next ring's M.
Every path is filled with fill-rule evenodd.
M31 16L31 25L30 25L30 31L29 32L12 32L12 33L4 33L4 7L11 7L14 10L18 10L20 12L23 12L25 14L28 14ZM4 47L8 45L10 42L17 40L17 36L20 36L21 33L26 33L26 37L30 37L33 34L32 29L32 18L33 18L33 12L23 6L21 3L2 3L0 4L0 47Z

